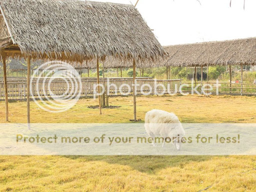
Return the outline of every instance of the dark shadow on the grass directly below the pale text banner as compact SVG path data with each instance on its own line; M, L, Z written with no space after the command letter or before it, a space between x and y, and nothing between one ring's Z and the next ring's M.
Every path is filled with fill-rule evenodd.
M140 172L154 174L167 167L183 168L185 164L200 162L212 158L212 156L65 156L70 159L84 161L104 161L111 164L127 165Z

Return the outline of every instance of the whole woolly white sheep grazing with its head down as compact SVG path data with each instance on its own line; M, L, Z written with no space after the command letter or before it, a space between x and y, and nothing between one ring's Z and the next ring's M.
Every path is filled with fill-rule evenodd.
M160 135L163 139L162 147L164 147L165 141L171 140L176 149L180 150L180 145L184 142L185 131L174 113L158 109L150 110L145 115L144 127L152 138L154 146L155 136Z

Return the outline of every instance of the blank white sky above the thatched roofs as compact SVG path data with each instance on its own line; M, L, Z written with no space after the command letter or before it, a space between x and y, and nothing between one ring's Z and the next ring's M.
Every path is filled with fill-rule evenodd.
M94 0L135 4L136 0ZM256 36L256 0L139 0L136 8L162 45Z

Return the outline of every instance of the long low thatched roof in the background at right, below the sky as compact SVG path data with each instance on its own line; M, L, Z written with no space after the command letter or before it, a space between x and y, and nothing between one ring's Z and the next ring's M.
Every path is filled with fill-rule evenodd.
M167 61L159 65L206 66L256 64L256 37L165 46Z

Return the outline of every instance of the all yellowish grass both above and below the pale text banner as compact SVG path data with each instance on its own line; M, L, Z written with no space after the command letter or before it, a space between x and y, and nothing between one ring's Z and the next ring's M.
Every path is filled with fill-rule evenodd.
M139 96L137 116L158 108L181 122L256 122L254 96ZM63 113L31 101L31 122L130 122L132 97L110 98L116 109L87 108L80 99ZM4 122L4 102L0 102ZM9 104L9 121L26 122L26 103ZM131 122L132 123L132 122ZM0 191L256 191L256 156L0 156Z

